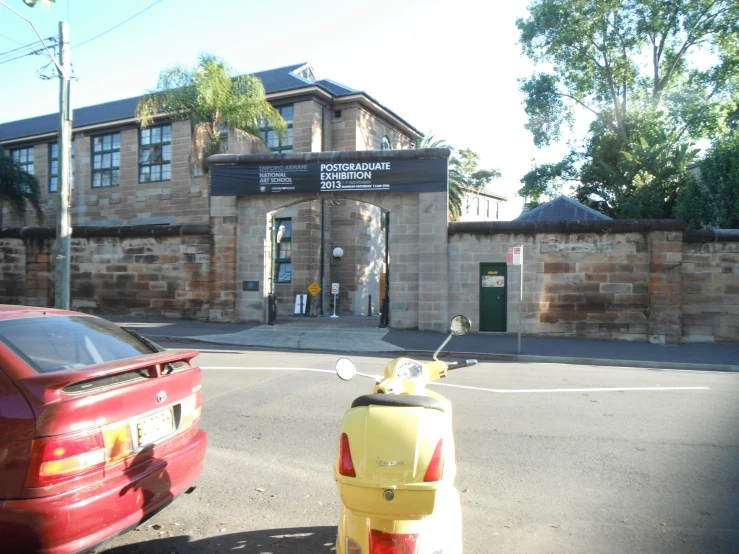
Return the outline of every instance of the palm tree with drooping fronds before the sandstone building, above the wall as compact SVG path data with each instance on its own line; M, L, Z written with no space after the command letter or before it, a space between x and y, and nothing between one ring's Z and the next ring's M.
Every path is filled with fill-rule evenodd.
M142 127L164 115L189 120L193 129L193 161L208 171L207 158L221 150L224 133L232 132L249 151L269 152L260 138L262 128L287 129L282 116L267 101L262 82L253 75L234 75L212 54L201 54L194 68L174 65L162 70L156 89L136 106Z

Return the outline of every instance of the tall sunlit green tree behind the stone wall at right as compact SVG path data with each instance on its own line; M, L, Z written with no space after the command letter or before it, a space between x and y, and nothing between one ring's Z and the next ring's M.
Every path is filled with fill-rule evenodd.
M615 217L669 217L690 185L694 142L725 131L739 87L736 0L534 0L517 21L538 71L521 82L527 128L547 146L592 118L560 163L534 169L519 194L564 180Z

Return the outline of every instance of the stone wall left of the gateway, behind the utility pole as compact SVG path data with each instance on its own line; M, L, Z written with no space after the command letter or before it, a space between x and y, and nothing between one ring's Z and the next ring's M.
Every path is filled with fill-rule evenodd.
M0 232L0 301L52 306L54 231ZM71 308L98 315L208 319L207 226L87 227L72 237Z

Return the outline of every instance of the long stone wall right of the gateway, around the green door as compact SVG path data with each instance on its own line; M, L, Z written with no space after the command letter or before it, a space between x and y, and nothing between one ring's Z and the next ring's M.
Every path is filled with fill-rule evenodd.
M678 343L737 341L739 243L683 243L679 221L456 223L449 313L476 314L480 263L524 245L522 332ZM508 271L508 332L518 332L518 267ZM478 321L475 321L477 319Z

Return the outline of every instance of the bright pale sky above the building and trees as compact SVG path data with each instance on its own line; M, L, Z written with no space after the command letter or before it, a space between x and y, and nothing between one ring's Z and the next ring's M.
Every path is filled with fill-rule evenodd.
M533 160L566 152L564 144L537 149L524 128L518 79L533 64L521 56L516 19L528 0L57 0L49 10L2 1L44 38L69 23L73 108L144 94L161 69L194 65L203 52L243 73L309 62L318 79L362 90L421 132L477 152L482 168L500 170L492 190L510 200L504 219L521 211L516 191ZM0 5L0 54L36 40L29 23ZM58 79L38 76L54 75L53 66L42 70L48 62L34 55L0 63L0 122L58 112Z

